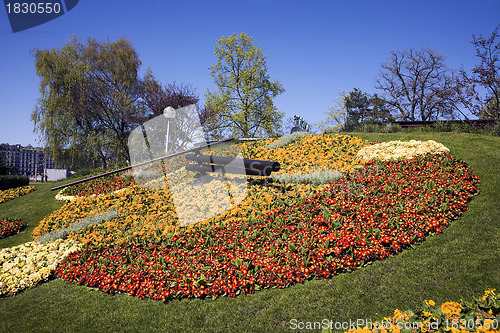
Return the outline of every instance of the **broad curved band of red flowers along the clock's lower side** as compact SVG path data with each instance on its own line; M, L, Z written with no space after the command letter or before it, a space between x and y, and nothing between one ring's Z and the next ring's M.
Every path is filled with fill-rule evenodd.
M449 155L372 162L306 201L258 219L200 225L158 244L88 245L56 273L140 298L234 296L330 277L440 233L478 177Z

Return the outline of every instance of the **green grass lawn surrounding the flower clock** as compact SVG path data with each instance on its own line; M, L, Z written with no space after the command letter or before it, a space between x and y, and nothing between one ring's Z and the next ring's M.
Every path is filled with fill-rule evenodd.
M480 193L442 234L352 273L234 298L166 304L55 279L0 299L0 332L290 332L292 319L375 319L396 308L416 310L426 299L440 304L477 298L488 287L500 289L500 138L456 132L355 135L441 142L479 176ZM37 222L61 206L50 192L55 185L36 185L35 192L0 204L0 217L29 224L0 240L0 248L32 240Z

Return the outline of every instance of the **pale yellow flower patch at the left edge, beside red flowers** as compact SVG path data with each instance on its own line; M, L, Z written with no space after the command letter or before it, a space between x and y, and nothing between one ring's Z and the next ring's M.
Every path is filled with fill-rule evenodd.
M0 296L11 296L47 280L56 266L81 245L67 240L28 242L0 250Z

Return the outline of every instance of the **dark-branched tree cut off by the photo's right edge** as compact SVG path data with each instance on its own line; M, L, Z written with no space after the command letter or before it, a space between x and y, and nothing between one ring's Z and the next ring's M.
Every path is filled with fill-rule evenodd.
M473 115L500 121L500 25L489 38L472 36L479 65L467 73L463 67L455 80L457 102ZM481 94L480 90L485 94Z

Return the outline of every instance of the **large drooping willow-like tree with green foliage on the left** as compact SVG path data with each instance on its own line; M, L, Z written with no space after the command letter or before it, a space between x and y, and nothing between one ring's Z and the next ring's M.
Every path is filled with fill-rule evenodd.
M129 41L32 51L41 97L32 120L53 158L72 168L130 160L127 137L144 119L138 104L141 65Z

